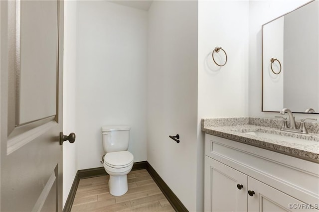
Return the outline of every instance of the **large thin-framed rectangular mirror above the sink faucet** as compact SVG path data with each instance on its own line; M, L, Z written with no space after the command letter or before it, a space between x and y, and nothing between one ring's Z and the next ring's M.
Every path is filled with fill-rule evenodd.
M319 0L262 25L262 111L319 114Z

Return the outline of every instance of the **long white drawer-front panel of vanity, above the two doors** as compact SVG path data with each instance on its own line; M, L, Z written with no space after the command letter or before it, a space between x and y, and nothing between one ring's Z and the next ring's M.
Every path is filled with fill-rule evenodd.
M319 203L318 163L210 134L205 155L305 203Z

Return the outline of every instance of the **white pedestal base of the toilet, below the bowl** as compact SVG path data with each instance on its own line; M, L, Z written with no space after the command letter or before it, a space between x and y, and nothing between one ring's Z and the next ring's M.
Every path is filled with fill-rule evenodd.
M127 175L110 175L109 180L110 194L113 196L122 196L128 191L128 177Z

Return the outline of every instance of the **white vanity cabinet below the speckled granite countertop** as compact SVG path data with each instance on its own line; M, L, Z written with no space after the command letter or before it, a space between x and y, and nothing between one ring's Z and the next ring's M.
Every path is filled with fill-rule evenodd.
M315 162L206 134L204 176L205 212L318 212Z

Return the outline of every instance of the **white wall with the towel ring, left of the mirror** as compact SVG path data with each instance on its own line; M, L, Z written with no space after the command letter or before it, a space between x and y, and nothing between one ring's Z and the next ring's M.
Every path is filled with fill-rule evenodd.
M197 205L203 206L204 135L201 118L248 116L248 1L198 2ZM215 47L227 63L212 60ZM219 64L225 62L220 52ZM219 59L214 53L214 58ZM217 62L217 61L216 61ZM198 208L203 211L202 208Z

